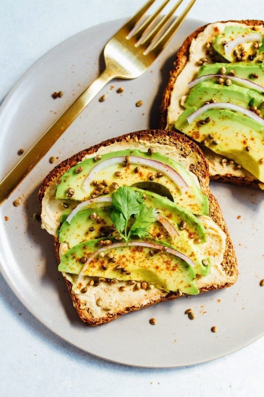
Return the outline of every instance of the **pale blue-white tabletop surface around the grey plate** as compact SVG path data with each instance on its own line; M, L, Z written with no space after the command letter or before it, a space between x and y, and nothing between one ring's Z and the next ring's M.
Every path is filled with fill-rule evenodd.
M0 100L53 46L92 25L128 17L142 3L2 0ZM190 13L190 17L208 21L263 15L263 2L257 0L197 0ZM263 395L264 338L230 356L191 368L130 368L92 357L56 337L23 307L1 276L0 300L0 397Z

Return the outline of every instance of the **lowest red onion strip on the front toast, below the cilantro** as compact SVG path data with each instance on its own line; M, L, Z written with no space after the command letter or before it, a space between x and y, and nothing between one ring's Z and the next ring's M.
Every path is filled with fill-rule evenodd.
M190 258L188 258L188 256L184 255L180 251L176 251L173 248L166 247L165 245L155 244L155 243L145 243L145 242L140 242L140 241L139 242L138 241L130 241L130 242L128 242L128 246L129 247L148 247L148 248L152 248L152 249L158 249L160 251L165 247L165 248L167 248L166 252L168 252L169 254L178 256L179 258L183 259L185 262L187 262L193 268L195 266L195 263ZM79 276L77 279L77 284L81 283L81 279L84 276L84 273L86 272L86 270L88 269L90 262L100 252L109 251L109 249L114 249L114 248L118 248L118 247L126 247L126 243L115 243L112 245L107 245L106 247L99 248L96 252L94 252L92 255L90 255L89 258L87 259L87 262L85 263L84 267L82 268L82 270L79 273Z

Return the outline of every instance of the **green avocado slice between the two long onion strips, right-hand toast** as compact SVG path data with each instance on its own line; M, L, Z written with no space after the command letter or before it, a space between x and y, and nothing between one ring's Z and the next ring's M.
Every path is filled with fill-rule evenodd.
M216 79L215 79L216 80ZM195 85L184 104L185 108L200 108L204 106L205 102L214 98L216 102L231 102L235 105L249 108L249 102L254 99L254 106L259 108L261 114L264 114L264 108L260 105L264 102L264 93L241 87L235 83L230 85L220 85L216 81L203 81Z

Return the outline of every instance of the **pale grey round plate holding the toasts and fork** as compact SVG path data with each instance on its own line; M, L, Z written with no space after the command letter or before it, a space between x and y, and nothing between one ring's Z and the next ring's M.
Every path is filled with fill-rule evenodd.
M112 21L83 31L44 55L21 77L0 112L1 177L98 75L101 51L124 23ZM263 193L212 183L235 245L239 280L228 289L149 307L101 327L83 324L57 272L52 237L33 219L38 187L54 165L105 139L158 125L159 105L175 52L203 25L187 20L159 59L132 81L113 81L101 91L38 166L0 208L1 270L30 312L57 335L98 357L145 367L197 364L231 353L264 333ZM119 87L122 94L117 94ZM51 94L62 90L62 98ZM106 94L104 102L98 98ZM143 106L135 103L143 100ZM55 164L50 156L59 157ZM21 205L14 207L19 198ZM9 220L4 220L4 217ZM184 314L193 308L196 319ZM156 326L149 324L155 317ZM217 326L218 333L210 328Z

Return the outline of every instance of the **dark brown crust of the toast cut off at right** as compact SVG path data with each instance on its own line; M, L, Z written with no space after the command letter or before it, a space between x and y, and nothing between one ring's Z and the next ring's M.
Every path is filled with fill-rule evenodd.
M238 22L238 23L244 23L245 25L264 25L264 21L259 21L255 19L245 19L242 21L220 21L221 23L226 23L226 22ZM191 33L187 37L187 39L183 42L182 46L179 48L177 54L176 54L176 59L174 61L174 67L172 71L170 71L170 78L168 81L168 84L164 90L163 93L163 100L161 103L160 107L160 113L161 113L161 118L160 118L160 123L159 123L159 128L164 129L166 128L167 125L167 113L168 113L168 106L170 105L170 96L174 87L174 83L176 81L176 78L184 69L184 66L188 62L189 59L189 48L191 46L191 42L193 39L196 39L199 33L203 32L205 28L208 26L204 25L199 27L196 31ZM228 182L228 183L233 183L235 185L247 185L250 187L253 187L255 189L260 189L259 183L260 181L258 179L247 179L245 177L238 177L236 175L232 174L226 174L226 175L210 175L210 179L213 181L219 181L219 182ZM262 189L260 189L262 190Z

